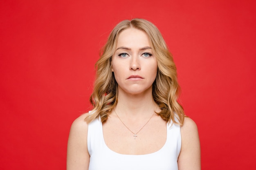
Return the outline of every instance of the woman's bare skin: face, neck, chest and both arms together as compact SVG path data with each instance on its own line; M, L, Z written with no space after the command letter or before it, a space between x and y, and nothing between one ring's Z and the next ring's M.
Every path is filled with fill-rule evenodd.
M118 83L118 103L115 107L120 119L137 132L137 138L112 111L103 123L103 137L108 148L126 155L156 152L166 142L166 122L157 114L160 109L153 100L152 84L157 74L157 60L150 49L146 33L126 29L117 39L112 57L112 71ZM70 130L67 147L67 170L88 170L88 124L85 115L77 118ZM182 146L178 157L179 170L200 170L200 142L195 122L186 117L181 126Z

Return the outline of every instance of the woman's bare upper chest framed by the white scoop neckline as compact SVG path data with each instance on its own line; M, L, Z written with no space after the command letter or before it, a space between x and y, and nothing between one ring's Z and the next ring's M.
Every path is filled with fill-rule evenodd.
M124 124L119 119L109 119L103 124L103 139L110 150L125 155L145 155L160 150L167 139L167 125L161 117L148 123Z

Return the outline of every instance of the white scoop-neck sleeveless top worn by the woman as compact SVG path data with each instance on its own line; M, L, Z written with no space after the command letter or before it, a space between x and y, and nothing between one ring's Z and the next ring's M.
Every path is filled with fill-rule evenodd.
M87 146L90 154L89 170L178 170L181 148L180 126L167 124L164 146L146 155L124 155L108 148L103 138L101 119L88 125Z

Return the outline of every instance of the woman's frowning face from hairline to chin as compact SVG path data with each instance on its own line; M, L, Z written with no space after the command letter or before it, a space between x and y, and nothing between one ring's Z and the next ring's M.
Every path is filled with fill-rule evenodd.
M112 56L112 72L118 84L118 92L152 93L157 60L145 32L129 28L119 34L116 51Z

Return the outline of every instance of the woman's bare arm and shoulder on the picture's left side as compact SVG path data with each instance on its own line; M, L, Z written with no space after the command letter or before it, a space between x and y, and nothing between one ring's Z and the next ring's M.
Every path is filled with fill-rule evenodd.
M87 149L87 114L78 117L70 128L67 142L67 170L88 170L90 155Z

